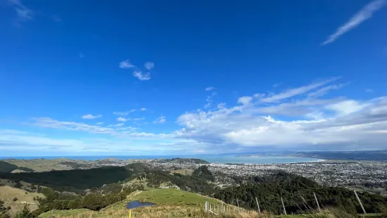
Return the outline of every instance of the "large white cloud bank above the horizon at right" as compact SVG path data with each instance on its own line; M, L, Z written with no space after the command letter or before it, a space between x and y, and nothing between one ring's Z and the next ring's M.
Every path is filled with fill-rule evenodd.
M262 98L243 96L235 106L221 105L216 110L185 113L177 120L182 128L173 135L223 148L325 149L333 145L386 148L387 134L383 134L387 129L386 98L369 101L320 98L343 86L327 85L333 81L328 79L271 94L263 98L270 105L262 104ZM317 93L310 94L319 87Z

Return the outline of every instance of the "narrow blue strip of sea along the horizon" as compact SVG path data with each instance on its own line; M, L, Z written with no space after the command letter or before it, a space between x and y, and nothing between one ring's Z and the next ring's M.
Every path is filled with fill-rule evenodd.
M280 164L292 162L317 162L322 161L316 158L298 158L298 157L256 157L256 156L237 156L237 155L133 155L133 156L47 156L47 157L0 157L0 159L56 159L68 158L73 160L101 160L107 158L117 158L119 160L128 159L156 159L156 158L199 158L211 163L243 163L243 164Z

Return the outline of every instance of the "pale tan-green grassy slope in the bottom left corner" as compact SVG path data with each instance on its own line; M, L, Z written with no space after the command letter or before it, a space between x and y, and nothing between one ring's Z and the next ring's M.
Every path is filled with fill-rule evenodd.
M38 202L34 200L34 197L44 197L41 193L25 193L24 190L19 188L12 188L10 186L0 186L0 200L4 201L6 207L11 206L11 214L22 210L25 203L29 205L29 210L37 210ZM13 201L13 198L18 198L17 201Z

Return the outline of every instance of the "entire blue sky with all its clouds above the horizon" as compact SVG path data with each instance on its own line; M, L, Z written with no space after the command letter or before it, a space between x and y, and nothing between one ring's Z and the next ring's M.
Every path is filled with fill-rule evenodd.
M0 1L0 155L386 149L386 1Z

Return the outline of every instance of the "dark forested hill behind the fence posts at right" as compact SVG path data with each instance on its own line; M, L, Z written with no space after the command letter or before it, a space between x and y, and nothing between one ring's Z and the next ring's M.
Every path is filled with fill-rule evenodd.
M313 193L316 194L320 207L341 207L347 211L362 212L353 191L340 187L322 187L310 179L284 172L270 177L251 177L245 184L219 191L215 198L234 205L239 203L240 207L254 210L257 208L257 198L261 210L281 214L282 197L288 213L301 213L308 210L307 207L317 209ZM377 212L379 203L387 203L387 199L380 195L358 195L367 212Z

